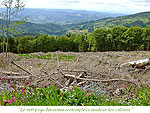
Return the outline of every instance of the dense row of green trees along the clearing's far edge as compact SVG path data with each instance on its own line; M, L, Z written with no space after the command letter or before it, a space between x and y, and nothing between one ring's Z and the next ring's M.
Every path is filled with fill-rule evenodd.
M0 52L3 51L4 40L6 39L0 38ZM137 50L150 50L150 26L145 28L114 26L111 29L96 29L88 35L66 34L56 37L41 34L35 37L10 37L8 39L8 51L13 53Z

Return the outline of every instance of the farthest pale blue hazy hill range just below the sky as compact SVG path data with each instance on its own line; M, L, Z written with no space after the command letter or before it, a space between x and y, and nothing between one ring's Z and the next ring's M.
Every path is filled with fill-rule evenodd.
M1 10L4 10L1 8ZM29 16L31 23L77 24L106 17L117 17L122 14L112 14L96 11L71 9L30 9L25 8L19 13L21 17Z

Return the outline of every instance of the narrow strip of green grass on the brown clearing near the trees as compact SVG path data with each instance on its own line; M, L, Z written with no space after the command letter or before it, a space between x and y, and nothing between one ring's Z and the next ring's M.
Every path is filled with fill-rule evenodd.
M23 57L25 59L32 59L32 58L37 58L37 59L53 59L57 60L56 55L33 55L33 54L18 54L18 56ZM72 61L75 59L75 56L70 56L70 55L64 55L60 54L59 55L59 60L60 61ZM18 58L17 61L19 61L21 58Z

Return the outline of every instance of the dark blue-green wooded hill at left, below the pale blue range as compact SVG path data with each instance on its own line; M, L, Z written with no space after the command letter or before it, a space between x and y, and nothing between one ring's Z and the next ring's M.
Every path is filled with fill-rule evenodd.
M2 24L5 25L4 20L0 20L0 26ZM15 30L19 34L18 33L13 34L14 36L24 36L24 35L35 36L40 34L63 35L66 33L66 28L64 26L51 24L51 23L35 24L35 23L26 22L15 27ZM0 33L1 33L1 29L0 29Z

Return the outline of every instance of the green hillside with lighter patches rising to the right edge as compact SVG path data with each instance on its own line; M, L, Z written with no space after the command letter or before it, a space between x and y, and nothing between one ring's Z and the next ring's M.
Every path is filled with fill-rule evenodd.
M145 27L147 25L150 25L150 12L142 12L133 15L89 21L73 27L72 30L88 29L89 31L93 31L96 28L112 28L113 26Z

